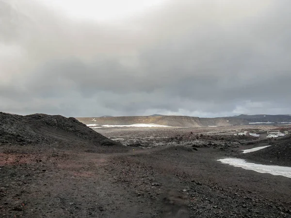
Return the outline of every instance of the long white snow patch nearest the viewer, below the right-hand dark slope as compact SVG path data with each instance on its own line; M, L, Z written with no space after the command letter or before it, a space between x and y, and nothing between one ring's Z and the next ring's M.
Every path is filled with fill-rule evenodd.
M240 167L245 170L251 170L260 173L270 173L272 175L281 175L291 178L291 167L248 163L245 160L239 158L224 158L217 161L220 161L224 164L229 164L234 167Z

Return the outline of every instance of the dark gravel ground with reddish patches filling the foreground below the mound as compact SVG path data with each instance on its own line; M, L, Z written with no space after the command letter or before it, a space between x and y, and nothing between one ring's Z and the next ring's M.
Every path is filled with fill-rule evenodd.
M133 151L134 149L134 151ZM216 161L224 151L2 153L2 217L291 217L291 179Z

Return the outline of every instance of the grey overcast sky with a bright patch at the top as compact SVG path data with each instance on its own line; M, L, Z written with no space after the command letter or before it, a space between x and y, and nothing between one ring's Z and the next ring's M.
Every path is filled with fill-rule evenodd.
M0 0L0 111L291 114L290 8L291 0Z

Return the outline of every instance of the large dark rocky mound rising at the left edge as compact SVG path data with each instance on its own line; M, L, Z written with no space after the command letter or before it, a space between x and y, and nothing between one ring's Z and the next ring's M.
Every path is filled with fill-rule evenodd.
M0 112L0 144L13 145L117 145L73 117L32 114L27 116Z

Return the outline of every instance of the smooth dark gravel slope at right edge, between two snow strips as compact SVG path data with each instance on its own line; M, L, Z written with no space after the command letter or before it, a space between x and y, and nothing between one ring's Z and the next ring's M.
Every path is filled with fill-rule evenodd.
M275 140L272 146L262 150L242 154L242 158L265 164L291 167L291 137Z

